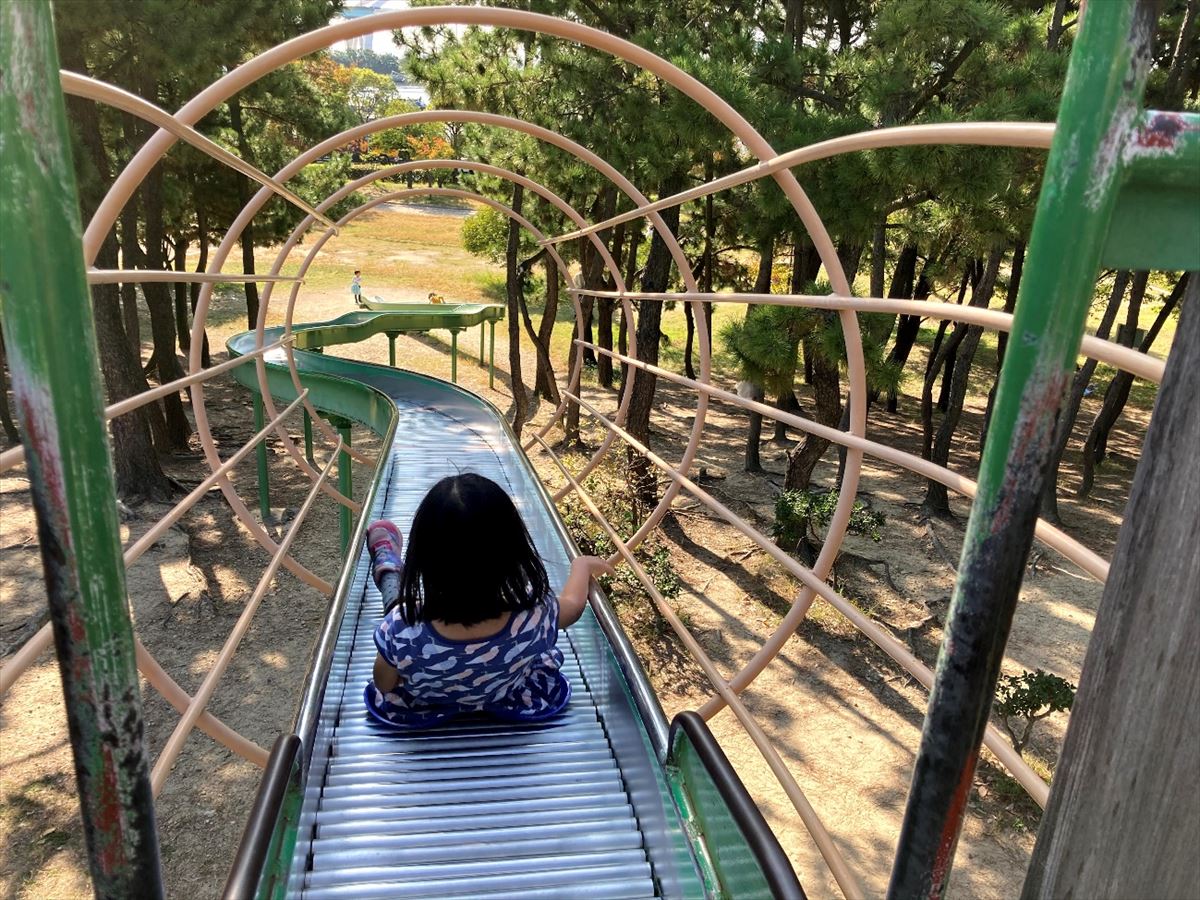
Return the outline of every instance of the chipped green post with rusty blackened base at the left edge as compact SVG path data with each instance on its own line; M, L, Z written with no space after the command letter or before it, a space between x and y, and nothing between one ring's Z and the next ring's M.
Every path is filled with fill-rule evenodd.
M0 4L0 314L92 890L158 898L142 695L48 2Z

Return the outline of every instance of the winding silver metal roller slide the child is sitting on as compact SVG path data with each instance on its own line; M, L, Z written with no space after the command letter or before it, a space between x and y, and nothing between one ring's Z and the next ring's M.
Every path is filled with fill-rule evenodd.
M386 316L362 324L383 331ZM325 332L331 340L323 341L319 326L300 329L306 334L299 346L337 340ZM230 350L246 353L253 340L252 334L234 338ZM512 497L552 586L562 587L575 550L493 407L401 370L326 354L295 356L318 408L391 436L364 522L386 517L407 533L434 481L476 472ZM244 383L256 388L253 378L246 372ZM270 367L270 378L272 394L294 396L278 365ZM379 426L370 398L353 396L367 390L388 397L392 427ZM280 768L278 778L289 779L283 793L292 796L294 811L262 816L256 808L227 896L600 900L714 896L737 884L750 892L738 896L800 895L764 823L757 830L733 829L746 847L733 863L726 851L714 854L706 847L692 805L710 805L718 794L684 784L688 779L668 764L662 712L599 594L559 636L572 697L557 719L527 725L463 718L426 731L397 731L372 720L362 690L376 656L372 632L382 601L368 577L361 528L302 701L295 761L290 773ZM462 554L469 565L470 547ZM679 739L685 740L672 732L671 743ZM679 767L685 769L691 770ZM269 769L260 805L271 778ZM737 780L731 770L713 778ZM744 793L740 782L736 790ZM278 805L287 808L284 800ZM256 833L264 850L247 863ZM773 878L773 868L782 875Z

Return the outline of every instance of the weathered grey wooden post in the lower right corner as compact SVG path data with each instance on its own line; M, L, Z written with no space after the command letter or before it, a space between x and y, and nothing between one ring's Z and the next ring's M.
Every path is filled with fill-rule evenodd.
M1196 893L1198 395L1200 308L1189 300L1130 487L1022 900Z

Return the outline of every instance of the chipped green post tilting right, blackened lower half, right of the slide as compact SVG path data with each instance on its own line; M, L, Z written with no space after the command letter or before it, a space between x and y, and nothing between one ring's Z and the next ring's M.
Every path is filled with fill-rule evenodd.
M1028 263L937 658L889 898L941 896L1033 541L1123 152L1139 121L1151 2L1088 4L1072 52Z

